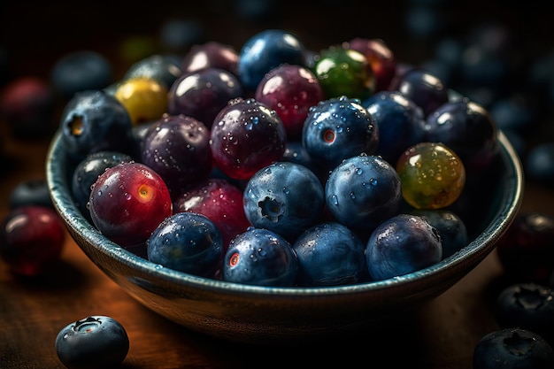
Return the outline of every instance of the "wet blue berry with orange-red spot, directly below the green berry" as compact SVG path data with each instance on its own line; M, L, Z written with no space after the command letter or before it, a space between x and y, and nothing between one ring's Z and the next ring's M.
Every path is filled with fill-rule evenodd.
M331 98L310 109L302 143L319 165L332 170L345 158L372 155L379 144L379 127L358 99Z

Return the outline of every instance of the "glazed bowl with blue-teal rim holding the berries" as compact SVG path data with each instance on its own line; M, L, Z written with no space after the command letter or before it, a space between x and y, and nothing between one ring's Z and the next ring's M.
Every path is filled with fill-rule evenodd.
M85 219L73 204L72 168L60 135L50 143L50 196L84 253L136 301L190 330L238 342L295 342L366 329L439 296L494 250L522 199L519 158L502 132L494 171L479 179L469 244L415 273L385 281L325 288L271 288L196 277L124 250ZM490 173L494 172L494 173Z

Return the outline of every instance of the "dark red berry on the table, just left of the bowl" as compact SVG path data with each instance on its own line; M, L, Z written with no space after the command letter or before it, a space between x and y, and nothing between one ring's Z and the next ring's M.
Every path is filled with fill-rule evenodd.
M26 205L8 212L0 228L0 258L19 276L46 273L64 249L65 226L50 207Z

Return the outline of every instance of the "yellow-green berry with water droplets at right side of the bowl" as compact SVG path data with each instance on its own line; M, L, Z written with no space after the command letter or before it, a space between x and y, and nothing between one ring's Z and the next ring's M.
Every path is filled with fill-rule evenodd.
M466 168L458 155L440 142L419 142L396 163L402 196L416 209L442 209L453 204L466 185Z

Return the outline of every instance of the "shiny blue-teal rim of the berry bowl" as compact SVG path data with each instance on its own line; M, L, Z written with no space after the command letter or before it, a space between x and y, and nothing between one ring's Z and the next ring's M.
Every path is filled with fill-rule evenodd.
M497 130L497 141L499 142L500 153L506 165L507 179L506 189L499 209L494 214L485 229L478 234L466 247L454 253L448 258L442 259L435 265L430 265L419 271L404 274L383 281L366 281L351 285L325 286L325 287L266 287L248 284L240 284L229 281L219 281L199 277L189 273L183 273L150 262L135 253L125 250L115 242L108 240L94 227L88 219L77 209L70 196L70 184L67 181L67 173L63 165L54 165L55 160L64 156L61 132L56 132L50 142L46 157L46 181L50 197L58 214L64 219L65 226L73 228L76 234L85 242L94 245L97 251L108 258L114 258L118 263L127 265L129 269L136 271L136 276L151 275L166 281L170 284L177 284L183 288L200 288L226 295L246 296L291 296L294 298L302 296L340 296L350 294L367 294L374 291L377 293L386 288L421 283L423 280L438 278L440 274L455 273L457 270L465 269L466 262L470 258L485 258L495 247L495 242L500 238L506 229L512 224L519 206L522 202L524 176L523 168L518 154L504 133ZM75 240L76 241L76 240ZM76 242L81 250L81 244ZM87 250L85 254L88 255ZM92 258L91 258L92 259ZM92 260L96 263L95 260ZM475 263L476 265L477 263ZM448 266L448 268L446 268ZM473 265L474 266L474 265ZM472 266L472 267L473 267ZM452 272L454 271L454 272Z

